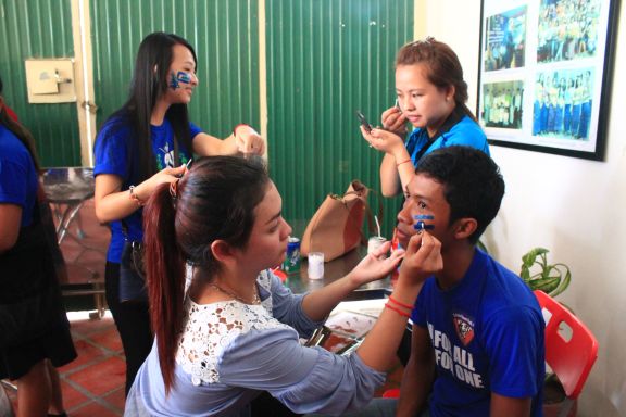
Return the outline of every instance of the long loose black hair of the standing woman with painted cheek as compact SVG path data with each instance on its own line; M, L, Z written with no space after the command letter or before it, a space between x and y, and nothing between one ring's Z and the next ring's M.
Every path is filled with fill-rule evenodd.
M140 178L138 180L143 180L156 173L156 163L152 155L150 117L156 100L167 91L170 65L176 45L187 48L193 55L193 62L197 65L196 51L184 38L163 31L148 35L139 45L128 100L109 117L109 119L120 118L121 123L124 124L130 123L134 129L132 140L137 141L137 146L129 147L129 149L139 151L138 173ZM165 113L165 118L172 125L175 140L191 152L192 138L189 131L187 105L183 103L172 104ZM129 161L133 161L133 155L129 156Z

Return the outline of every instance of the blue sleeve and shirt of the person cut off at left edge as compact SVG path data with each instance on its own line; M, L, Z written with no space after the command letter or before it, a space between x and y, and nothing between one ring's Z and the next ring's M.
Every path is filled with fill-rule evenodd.
M0 125L0 203L22 207L21 227L33 223L38 178L28 149Z

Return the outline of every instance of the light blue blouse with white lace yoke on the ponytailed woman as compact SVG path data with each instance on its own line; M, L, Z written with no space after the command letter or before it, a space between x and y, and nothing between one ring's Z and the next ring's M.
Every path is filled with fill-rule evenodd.
M322 325L302 311L303 295L268 271L259 276L258 289L260 305L187 299L172 391L165 392L154 344L128 393L125 416L239 416L259 391L298 414L340 415L367 404L385 374L358 354L302 346L299 338Z

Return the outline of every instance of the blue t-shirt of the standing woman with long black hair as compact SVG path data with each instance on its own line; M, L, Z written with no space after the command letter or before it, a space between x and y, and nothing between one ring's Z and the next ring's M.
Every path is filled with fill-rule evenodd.
M189 124L190 137L195 138L202 130ZM93 175L112 174L122 178L122 190L141 182L139 177L139 156L138 152L132 152L135 141L132 140L132 126L123 117L109 119L96 140L95 155L96 166ZM165 118L161 126L151 126L152 153L155 157L156 169L161 170L166 167L176 167L187 163L191 157L191 152L183 147L179 148L179 161L174 161L174 130L170 122ZM133 163L129 163L129 155L134 155ZM142 241L142 210L137 210L128 217L124 218L127 228L126 238L129 241ZM111 243L107 254L107 261L120 263L122 250L124 249L124 231L122 222L111 222Z

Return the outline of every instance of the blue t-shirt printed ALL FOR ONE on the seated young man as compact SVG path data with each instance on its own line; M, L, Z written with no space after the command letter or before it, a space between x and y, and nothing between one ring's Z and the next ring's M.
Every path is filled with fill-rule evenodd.
M491 392L530 396L530 415L542 415L546 326L518 276L476 250L454 288L426 280L411 318L428 329L435 351L430 416L488 416Z

